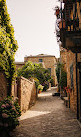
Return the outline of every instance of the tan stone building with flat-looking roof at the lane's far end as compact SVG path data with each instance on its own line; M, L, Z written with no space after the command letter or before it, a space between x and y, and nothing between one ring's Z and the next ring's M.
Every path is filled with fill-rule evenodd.
M24 62L32 61L33 63L42 63L43 67L50 71L52 78L54 79L55 85L57 85L56 77L56 65L57 58L53 55L39 54L37 56L27 56L24 57Z

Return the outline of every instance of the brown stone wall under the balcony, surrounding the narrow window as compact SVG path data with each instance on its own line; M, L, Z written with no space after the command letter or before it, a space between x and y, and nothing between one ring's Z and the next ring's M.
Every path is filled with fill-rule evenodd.
M65 70L67 72L67 86L71 87L71 71L70 68L73 65L73 87L70 93L69 107L72 111L77 113L77 90L76 90L76 56L70 50L61 51L61 59L65 64ZM67 94L69 97L69 94Z

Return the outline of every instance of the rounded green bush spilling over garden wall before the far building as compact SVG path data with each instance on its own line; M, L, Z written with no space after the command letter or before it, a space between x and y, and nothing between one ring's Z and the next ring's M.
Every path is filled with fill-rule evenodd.
M34 64L31 61L28 61L21 69L17 71L18 76L23 76L25 78L37 78L39 83L43 86L50 82L51 76L47 69L43 68L41 64ZM38 85L39 85L38 83ZM47 88L45 88L46 90Z

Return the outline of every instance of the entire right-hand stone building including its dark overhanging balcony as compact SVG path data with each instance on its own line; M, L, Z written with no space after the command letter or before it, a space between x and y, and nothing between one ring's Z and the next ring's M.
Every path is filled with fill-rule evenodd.
M66 62L67 86L71 89L68 94L69 107L81 122L81 1L60 0L60 2L60 14L56 16L57 20L60 19L61 46L67 49L61 52L61 61Z

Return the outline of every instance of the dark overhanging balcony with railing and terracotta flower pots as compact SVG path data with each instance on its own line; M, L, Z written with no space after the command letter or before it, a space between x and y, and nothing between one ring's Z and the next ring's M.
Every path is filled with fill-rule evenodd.
M63 0L63 3L59 22L62 47L81 53L81 0Z

